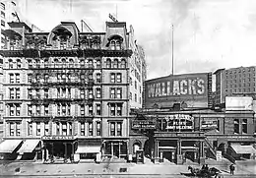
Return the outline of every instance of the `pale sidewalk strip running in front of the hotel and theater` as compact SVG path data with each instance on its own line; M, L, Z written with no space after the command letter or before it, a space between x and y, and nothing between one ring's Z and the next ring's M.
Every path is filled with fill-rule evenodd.
M181 172L189 173L185 165L175 165L169 162L160 164L135 164L135 163L78 163L78 164L41 164L32 162L12 162L0 165L0 175L60 175L60 174L155 174L155 175L180 175ZM192 165L201 167L200 165ZM17 173L16 168L20 167ZM210 165L222 170L224 175L229 174L229 168L225 164ZM256 165L251 163L249 166L235 165L235 174L256 174ZM120 172L120 168L123 168Z

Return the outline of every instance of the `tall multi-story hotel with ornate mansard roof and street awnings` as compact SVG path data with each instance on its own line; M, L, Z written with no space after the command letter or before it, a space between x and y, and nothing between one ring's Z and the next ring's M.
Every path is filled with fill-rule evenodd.
M50 32L25 23L4 30L6 158L127 158L129 111L142 107L145 59L126 23L82 32L62 22Z

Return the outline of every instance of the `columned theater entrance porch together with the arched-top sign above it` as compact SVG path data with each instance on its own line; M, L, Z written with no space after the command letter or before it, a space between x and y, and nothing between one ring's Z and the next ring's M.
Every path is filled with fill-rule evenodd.
M168 160L182 164L186 159L203 163L203 132L194 130L194 117L189 114L161 115L155 132L155 162Z

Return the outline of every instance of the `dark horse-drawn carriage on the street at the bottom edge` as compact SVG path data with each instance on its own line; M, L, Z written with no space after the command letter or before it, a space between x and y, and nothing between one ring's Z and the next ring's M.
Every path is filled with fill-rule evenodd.
M181 175L186 175L188 177L201 177L201 178L223 178L222 171L212 167L209 169L200 169L200 168L193 168L188 166L188 170L191 173L181 173Z

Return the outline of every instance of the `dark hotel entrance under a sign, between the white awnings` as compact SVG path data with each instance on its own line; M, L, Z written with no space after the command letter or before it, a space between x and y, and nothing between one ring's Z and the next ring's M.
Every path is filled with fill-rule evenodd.
M74 136L43 136L43 160L45 162L73 162L77 149Z

